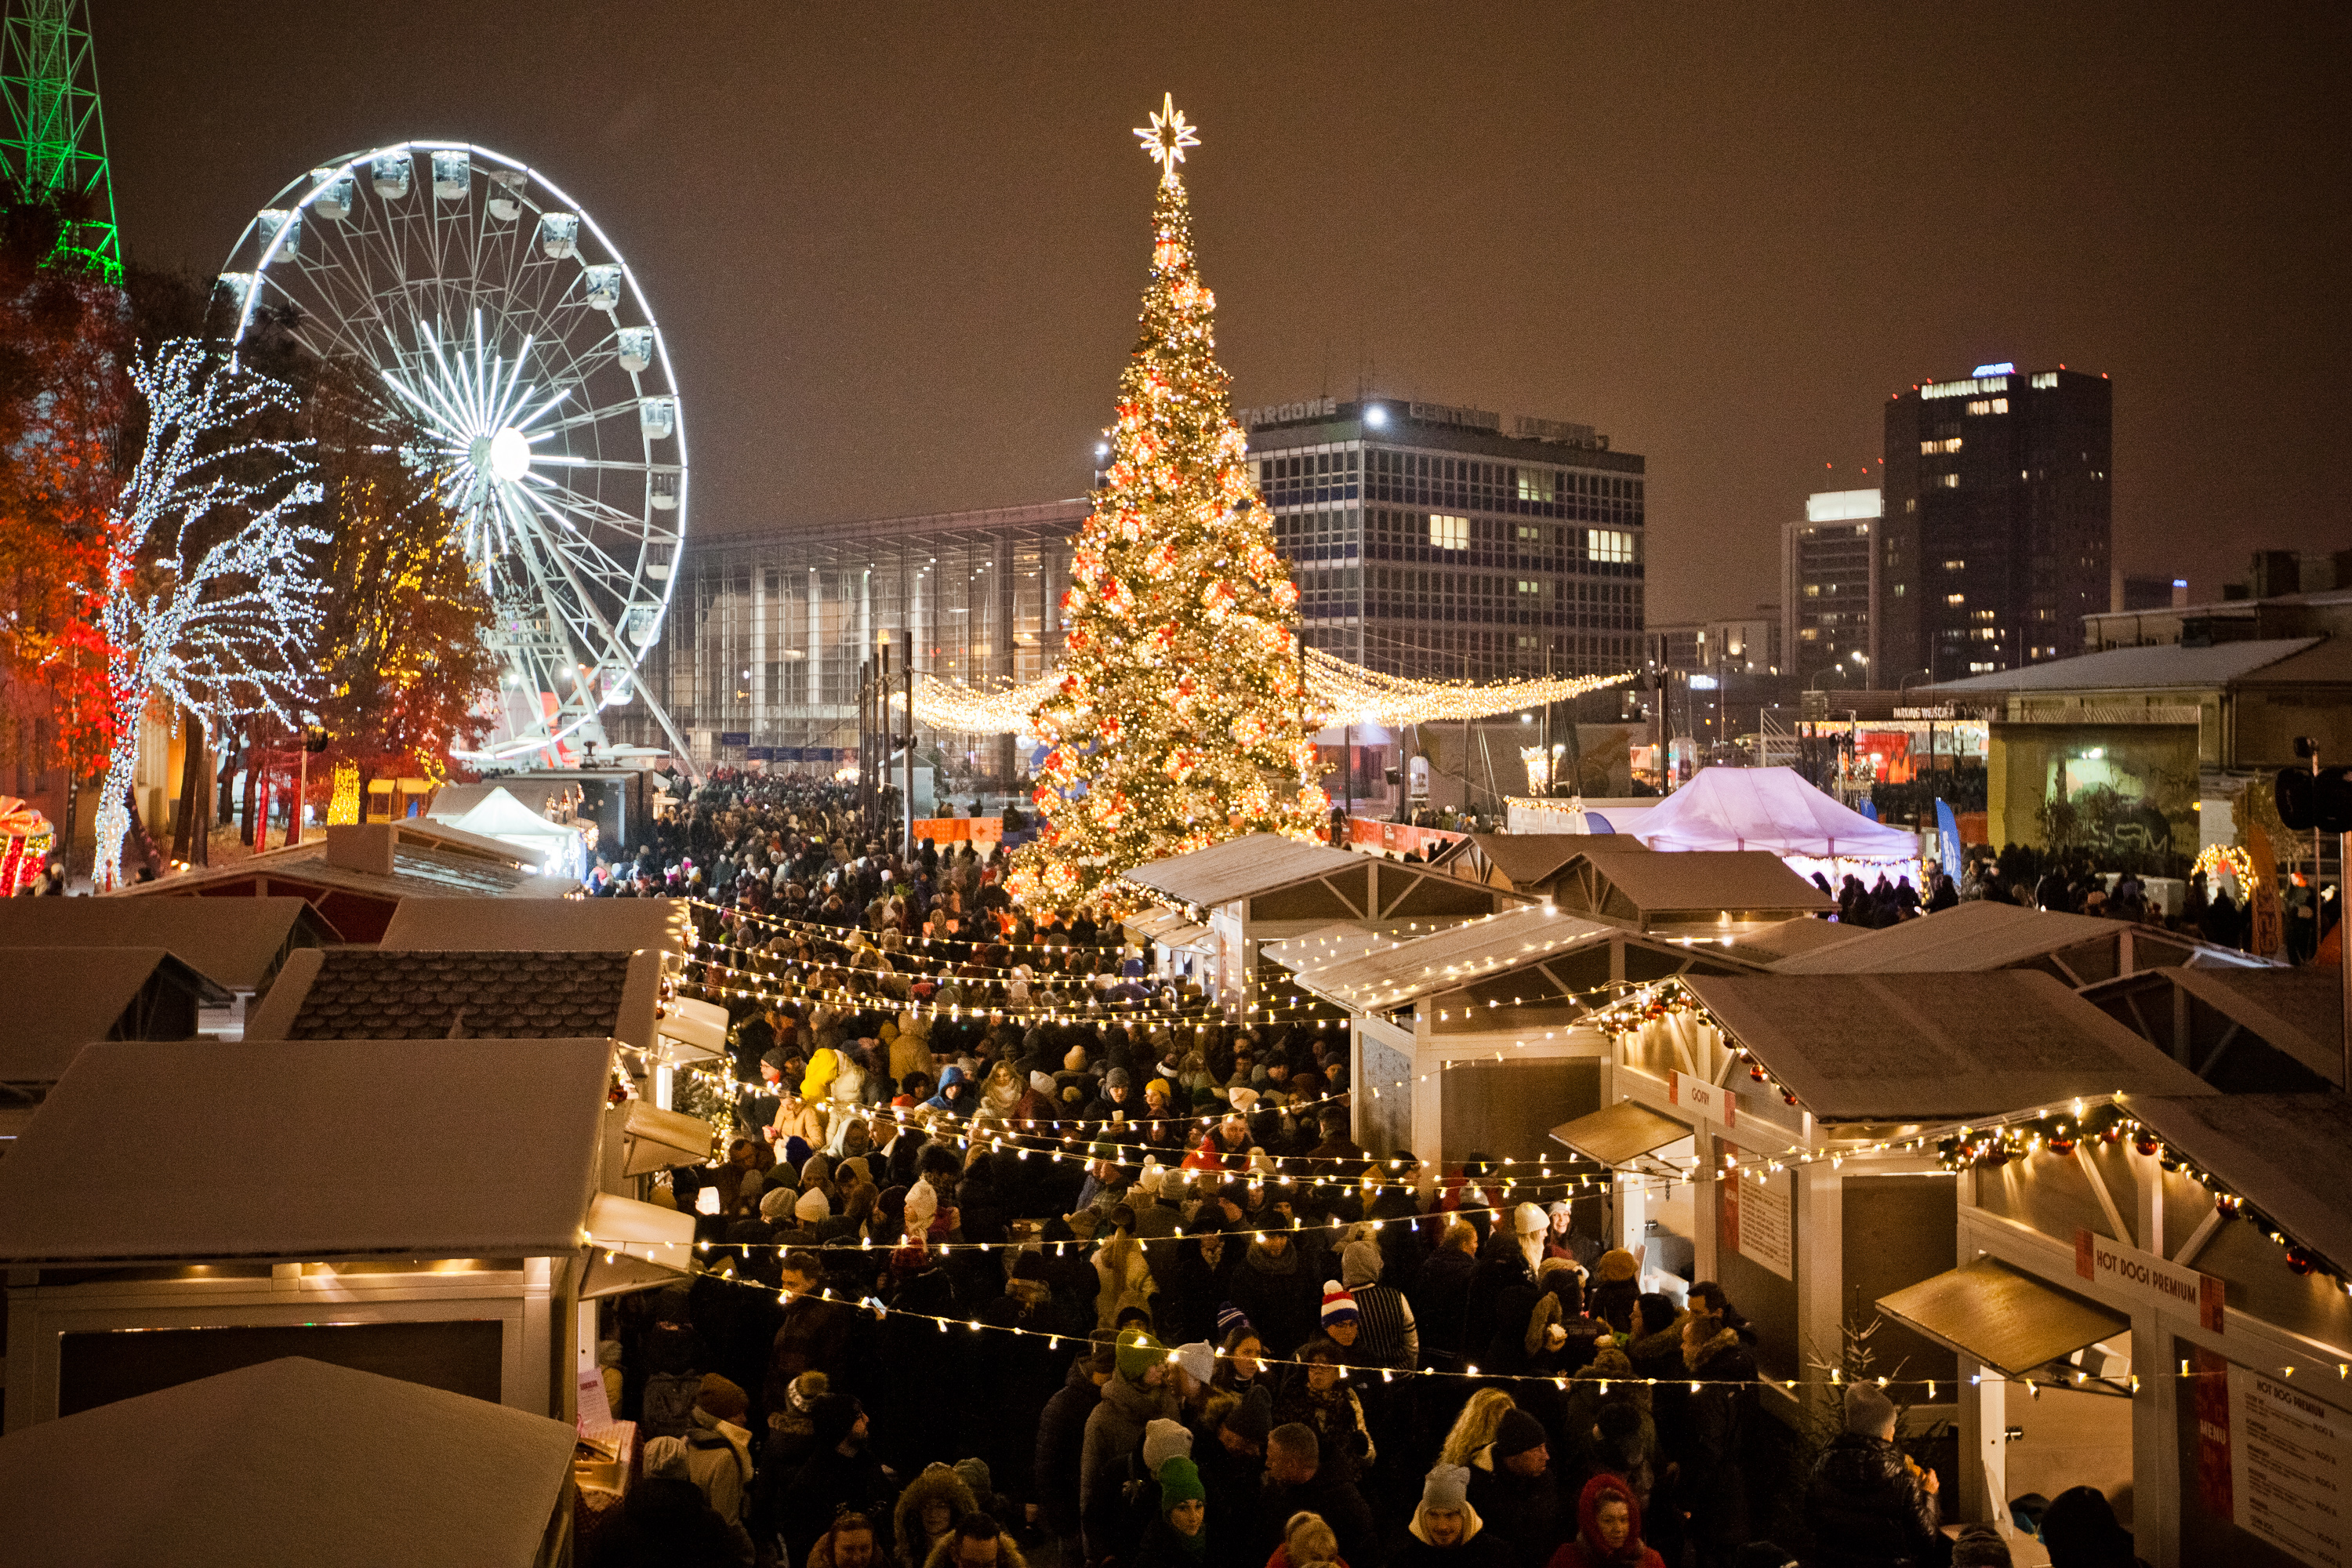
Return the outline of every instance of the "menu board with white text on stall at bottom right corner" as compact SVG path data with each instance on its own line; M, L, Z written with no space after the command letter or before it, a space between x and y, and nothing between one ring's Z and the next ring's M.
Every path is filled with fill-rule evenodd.
M2230 1493L2239 1530L2312 1568L2347 1568L2352 1415L2291 1378L2230 1368Z

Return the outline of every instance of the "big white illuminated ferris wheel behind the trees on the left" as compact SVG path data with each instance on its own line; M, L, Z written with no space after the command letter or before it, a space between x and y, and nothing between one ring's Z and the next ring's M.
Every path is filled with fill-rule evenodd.
M687 430L661 327L595 219L503 153L402 141L289 181L221 282L238 343L263 313L285 317L426 433L419 461L454 496L503 658L499 726L461 757L602 748L600 715L637 696L668 614Z

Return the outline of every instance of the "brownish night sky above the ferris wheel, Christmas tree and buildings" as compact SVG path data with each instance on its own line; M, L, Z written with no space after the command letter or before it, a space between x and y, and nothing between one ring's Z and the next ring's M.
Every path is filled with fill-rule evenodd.
M92 9L151 266L407 136L569 188L670 339L701 536L1080 494L1174 92L1237 402L1606 430L1653 621L1773 597L1886 395L1987 360L2114 376L2126 569L2352 545L2340 5Z

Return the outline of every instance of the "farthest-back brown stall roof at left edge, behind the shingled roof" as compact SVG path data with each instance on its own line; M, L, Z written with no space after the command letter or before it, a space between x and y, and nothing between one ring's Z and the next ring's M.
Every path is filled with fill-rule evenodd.
M332 940L301 898L0 898L0 947L165 947L233 992L259 992L287 952Z

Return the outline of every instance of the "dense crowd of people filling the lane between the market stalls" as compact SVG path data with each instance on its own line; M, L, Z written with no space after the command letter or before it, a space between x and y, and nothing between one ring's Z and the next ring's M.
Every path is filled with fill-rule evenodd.
M722 778L604 884L708 900L687 980L734 1060L724 1159L654 1192L699 1272L604 1307L644 1472L590 1568L2009 1561L1947 1540L1867 1387L1769 1507L1752 1326L1609 1248L1590 1171L1374 1159L1341 1030L1152 990L990 858ZM2131 1561L2096 1493L2044 1535Z

